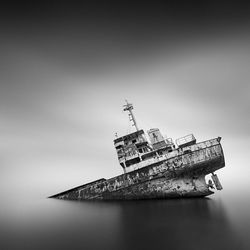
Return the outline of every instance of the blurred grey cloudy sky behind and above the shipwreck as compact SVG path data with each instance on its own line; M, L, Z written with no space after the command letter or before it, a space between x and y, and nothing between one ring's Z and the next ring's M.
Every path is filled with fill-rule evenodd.
M246 185L249 10L236 1L4 5L4 190L46 197L122 173L113 139L133 131L125 99L145 131L222 136L222 185Z

